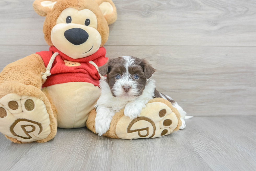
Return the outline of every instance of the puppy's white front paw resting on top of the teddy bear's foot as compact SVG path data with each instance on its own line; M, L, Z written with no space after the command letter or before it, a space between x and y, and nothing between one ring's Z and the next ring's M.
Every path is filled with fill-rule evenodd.
M130 119L135 119L140 116L143 107L146 107L146 105L140 101L130 101L125 106L124 115L130 117Z

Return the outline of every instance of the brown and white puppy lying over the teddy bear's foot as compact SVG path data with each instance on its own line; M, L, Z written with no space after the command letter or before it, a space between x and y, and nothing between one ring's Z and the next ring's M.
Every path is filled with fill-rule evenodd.
M170 101L181 114L185 128L186 112L169 96L155 88L151 78L156 70L145 60L133 56L121 56L99 67L99 74L107 75L100 80L101 96L96 104L95 129L98 135L107 132L114 114L124 109L124 115L134 119L150 99L161 97Z

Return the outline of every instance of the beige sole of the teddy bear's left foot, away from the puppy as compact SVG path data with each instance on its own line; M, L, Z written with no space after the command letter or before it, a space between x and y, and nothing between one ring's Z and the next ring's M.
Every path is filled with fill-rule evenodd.
M0 99L0 132L22 142L41 140L51 132L44 102L10 93Z

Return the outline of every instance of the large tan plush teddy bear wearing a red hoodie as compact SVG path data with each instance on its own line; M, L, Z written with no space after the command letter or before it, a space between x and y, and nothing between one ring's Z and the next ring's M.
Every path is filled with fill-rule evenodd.
M43 33L50 48L0 73L0 132L15 143L49 141L57 127L87 126L95 132L98 67L108 60L103 45L117 9L111 0L36 0L33 7L46 16ZM156 98L135 120L117 113L105 135L161 137L179 129L179 117L171 103Z

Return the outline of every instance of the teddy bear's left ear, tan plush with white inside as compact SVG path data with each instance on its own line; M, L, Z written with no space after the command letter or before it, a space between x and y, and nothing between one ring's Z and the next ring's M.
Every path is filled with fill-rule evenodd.
M41 16L46 16L47 13L51 12L57 0L36 0L33 3L34 10Z

